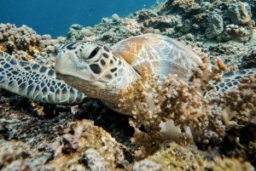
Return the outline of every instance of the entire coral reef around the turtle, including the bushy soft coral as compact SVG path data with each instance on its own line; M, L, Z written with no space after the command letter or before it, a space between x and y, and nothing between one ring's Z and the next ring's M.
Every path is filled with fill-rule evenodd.
M125 18L113 14L94 27L73 25L67 39L53 40L27 26L1 24L0 50L53 67L61 43L85 39L110 46L154 32L177 38L198 54L209 54L212 62L220 57L229 66L255 67L253 0L157 2L153 9ZM170 75L160 84L157 76L144 71L128 93L121 92L120 106L133 109L135 118L120 116L95 100L73 108L43 105L1 89L0 169L253 170L256 76L243 77L237 89L216 95L207 82L226 68L218 62L209 76L207 65L195 70L190 83ZM132 100L137 100L137 107ZM162 144L165 140L177 143Z

